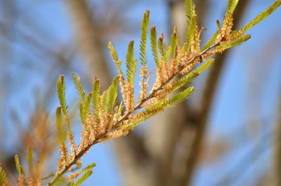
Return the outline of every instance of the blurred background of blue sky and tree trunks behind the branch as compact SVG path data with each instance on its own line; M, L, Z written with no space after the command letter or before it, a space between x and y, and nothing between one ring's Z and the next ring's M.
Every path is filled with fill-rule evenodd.
M272 3L241 1L235 27ZM216 19L223 20L227 1L195 4L200 27L207 28L204 44L216 30ZM87 91L94 76L105 88L117 75L107 42L124 59L131 39L139 45L146 9L158 34L169 41L176 25L183 43L181 0L0 1L0 164L11 180L16 175L13 156L20 154L24 162L29 144L37 156L46 154L44 175L55 171L59 74L65 74L79 142L71 72L80 75ZM83 163L97 166L83 185L281 185L280 18L279 8L249 30L252 37L246 44L216 56L213 67L193 82L196 91L189 100L119 140L94 146ZM138 53L136 47L136 57ZM148 57L153 71L149 50Z

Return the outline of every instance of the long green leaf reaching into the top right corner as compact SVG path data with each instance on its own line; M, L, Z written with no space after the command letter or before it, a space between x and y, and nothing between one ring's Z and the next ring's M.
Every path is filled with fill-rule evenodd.
M275 1L271 6L269 6L266 11L263 11L262 13L260 13L258 16L256 16L256 18L254 18L253 20L251 20L250 22L248 22L244 28L242 29L243 32L247 32L251 27L254 27L256 24L258 24L259 22L261 22L264 18L267 18L268 15L270 15L271 13L273 13L276 8L278 8L278 6L281 5L281 1Z

